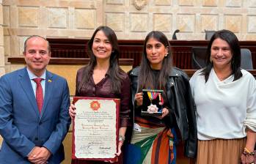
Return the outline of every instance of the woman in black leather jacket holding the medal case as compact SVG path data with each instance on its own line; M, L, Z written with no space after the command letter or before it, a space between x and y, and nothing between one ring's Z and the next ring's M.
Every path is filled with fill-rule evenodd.
M176 163L175 143L178 137L175 132L180 133L179 139L185 141L184 154L195 157L197 126L189 78L182 70L172 67L169 41L161 31L147 34L141 65L131 70L129 76L134 103L134 130L131 144L125 152L125 163ZM142 89L151 90L143 94ZM161 98L160 92L154 98L156 89L163 91ZM151 96L145 95L149 92L152 92ZM142 114L145 97L158 99L162 105L160 116Z

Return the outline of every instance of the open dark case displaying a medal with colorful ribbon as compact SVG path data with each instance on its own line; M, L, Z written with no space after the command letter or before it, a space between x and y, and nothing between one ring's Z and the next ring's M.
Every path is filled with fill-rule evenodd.
M142 89L143 103L142 116L161 116L164 99L164 91L156 89Z

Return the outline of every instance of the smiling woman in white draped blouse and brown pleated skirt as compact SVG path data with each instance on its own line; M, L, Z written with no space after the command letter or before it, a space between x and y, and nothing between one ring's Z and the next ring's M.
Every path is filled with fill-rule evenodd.
M206 67L190 80L197 105L197 163L254 163L256 83L240 67L238 38L232 31L216 31L205 55Z

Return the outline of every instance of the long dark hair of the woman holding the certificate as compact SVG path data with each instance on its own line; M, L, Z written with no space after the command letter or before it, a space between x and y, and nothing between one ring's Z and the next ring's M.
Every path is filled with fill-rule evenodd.
M112 46L112 51L111 51L111 56L109 60L109 78L111 81L111 90L114 94L120 94L121 92L121 85L122 85L122 78L121 75L123 75L125 72L120 69L118 66L118 59L120 56L120 49L118 48L118 43L117 43L117 36L114 33L112 29L110 29L108 26L99 26L95 32L92 34L92 38L88 42L88 55L89 59L89 64L84 68L83 72L83 78L78 86L78 91L81 90L82 86L87 85L89 83L89 78L92 73L92 70L95 68L97 64L97 60L95 55L92 52L92 44L93 40L95 38L95 35L97 34L98 31L103 31L103 33L106 35L108 38L109 42L111 43Z

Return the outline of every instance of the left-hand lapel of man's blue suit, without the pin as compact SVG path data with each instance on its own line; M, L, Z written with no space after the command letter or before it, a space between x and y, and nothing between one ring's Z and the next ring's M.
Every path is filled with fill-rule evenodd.
M26 97L28 97L29 102L31 103L32 108L34 109L36 115L38 117L40 117L40 113L39 113L38 107L37 107L37 101L35 100L35 97L34 97L32 84L29 79L29 74L26 70L26 67L23 70L21 70L21 73L19 76L20 76L19 82L21 83L21 87L23 88L23 91L25 92Z

